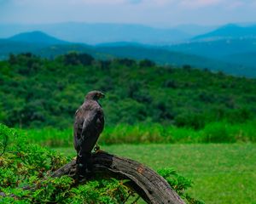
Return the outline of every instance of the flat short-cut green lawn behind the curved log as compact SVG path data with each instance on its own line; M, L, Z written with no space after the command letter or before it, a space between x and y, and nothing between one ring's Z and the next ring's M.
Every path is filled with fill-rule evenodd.
M206 203L256 203L256 144L114 144L119 156L158 170L172 167L194 181L189 193ZM75 156L72 148L58 148Z

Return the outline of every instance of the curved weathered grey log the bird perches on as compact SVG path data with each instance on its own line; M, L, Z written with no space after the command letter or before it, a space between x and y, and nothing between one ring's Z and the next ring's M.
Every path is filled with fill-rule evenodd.
M148 203L185 203L164 178L137 161L101 152L93 154L91 162L93 173L104 173L104 175L131 180L131 188ZM75 171L76 163L73 160L52 173L52 176L74 177Z

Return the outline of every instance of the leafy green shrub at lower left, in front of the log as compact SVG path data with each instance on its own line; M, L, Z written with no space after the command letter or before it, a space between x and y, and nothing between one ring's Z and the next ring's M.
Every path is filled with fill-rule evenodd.
M0 124L1 150L5 136L12 141L0 156L1 203L120 203L128 196L125 180L97 179L78 188L72 178L51 178L55 171L67 162L67 158L54 150L35 144L27 144L26 137L14 129ZM32 190L22 190L32 186Z

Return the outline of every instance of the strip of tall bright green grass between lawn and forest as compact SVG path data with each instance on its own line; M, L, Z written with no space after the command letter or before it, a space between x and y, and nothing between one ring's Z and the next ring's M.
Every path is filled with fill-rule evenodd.
M73 144L73 129L55 128L22 130L32 143L57 147ZM201 130L189 127L161 126L158 123L136 125L119 124L105 127L102 144L150 144L150 143L235 143L256 142L256 121L230 124L212 122Z

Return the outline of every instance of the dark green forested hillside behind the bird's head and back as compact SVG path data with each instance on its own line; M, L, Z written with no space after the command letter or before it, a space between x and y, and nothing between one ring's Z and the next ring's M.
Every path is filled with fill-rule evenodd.
M10 55L0 62L0 122L17 127L71 127L90 90L102 90L107 125L160 122L201 128L256 115L256 80L157 66L150 60L93 59L67 54L41 59Z

